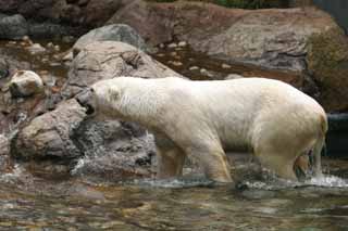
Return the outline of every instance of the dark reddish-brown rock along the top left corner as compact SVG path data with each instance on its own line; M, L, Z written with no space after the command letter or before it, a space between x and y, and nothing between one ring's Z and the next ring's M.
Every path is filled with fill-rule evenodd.
M0 12L20 13L26 18L102 26L120 8L133 0L0 0Z

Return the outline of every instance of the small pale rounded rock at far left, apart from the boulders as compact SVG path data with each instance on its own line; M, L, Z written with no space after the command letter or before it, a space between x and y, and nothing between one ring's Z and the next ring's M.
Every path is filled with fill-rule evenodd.
M30 97L44 90L41 78L32 70L18 70L10 81L10 91L13 98Z

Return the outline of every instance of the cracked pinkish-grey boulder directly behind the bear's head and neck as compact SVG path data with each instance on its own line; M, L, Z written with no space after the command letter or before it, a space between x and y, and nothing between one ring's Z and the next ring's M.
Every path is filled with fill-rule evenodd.
M62 95L71 98L98 80L127 75L144 78L181 76L135 47L97 41L82 49L72 62Z

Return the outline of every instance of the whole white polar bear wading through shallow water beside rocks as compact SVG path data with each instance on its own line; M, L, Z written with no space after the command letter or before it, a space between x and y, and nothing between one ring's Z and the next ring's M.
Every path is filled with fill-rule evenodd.
M88 114L153 131L159 178L182 175L186 156L192 156L209 179L231 182L224 152L231 150L252 152L263 167L290 180L297 179L295 163L312 151L314 174L321 175L326 114L278 80L117 77L96 82L76 99Z

